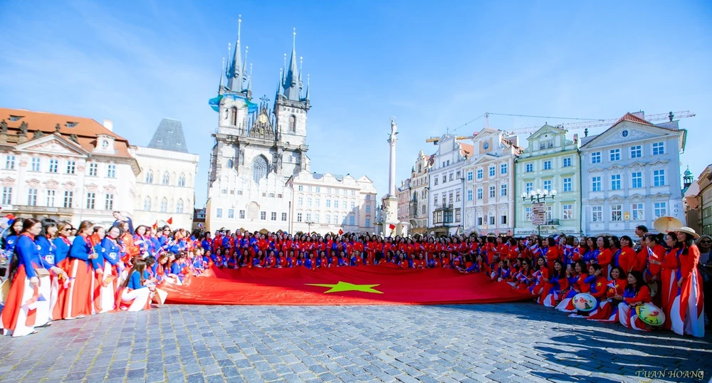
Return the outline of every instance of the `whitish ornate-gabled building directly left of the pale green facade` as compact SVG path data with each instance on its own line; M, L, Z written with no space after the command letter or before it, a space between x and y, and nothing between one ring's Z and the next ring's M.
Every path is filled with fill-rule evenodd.
M463 165L466 233L513 233L514 159L519 153L516 137L501 130L486 127L473 137L472 155Z

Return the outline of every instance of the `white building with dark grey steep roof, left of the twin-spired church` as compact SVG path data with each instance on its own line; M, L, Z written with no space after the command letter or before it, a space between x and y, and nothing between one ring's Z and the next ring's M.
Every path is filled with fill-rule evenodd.
M164 118L147 147L136 147L141 173L136 182L134 221L172 221L192 229L199 156L188 152L180 121Z

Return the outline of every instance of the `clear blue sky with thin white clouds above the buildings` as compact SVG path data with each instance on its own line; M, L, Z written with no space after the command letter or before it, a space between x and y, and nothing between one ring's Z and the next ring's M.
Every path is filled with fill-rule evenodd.
M689 130L683 166L697 176L712 162L709 1L0 0L0 105L110 119L132 145L147 145L162 117L181 120L190 151L201 156L201 205L217 122L207 100L238 14L254 97L273 100L297 28L297 53L311 75L312 170L366 174L379 194L387 192L392 115L398 179L420 149L434 152L427 137L483 112L614 118L691 110L697 116L681 121ZM545 121L566 122L493 116L490 125ZM455 132L469 135L483 123Z

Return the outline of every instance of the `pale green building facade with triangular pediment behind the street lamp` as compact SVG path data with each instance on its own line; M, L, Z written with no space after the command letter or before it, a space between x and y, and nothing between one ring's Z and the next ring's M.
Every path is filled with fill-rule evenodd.
M564 233L581 234L581 168L579 140L567 140L567 131L544 125L528 137L528 147L516 159L516 185L513 193L516 209L514 234L542 236ZM532 199L538 190L555 191L554 198L545 199L546 221L543 226L532 224ZM523 198L522 195L527 197ZM535 200L534 200L535 202Z

